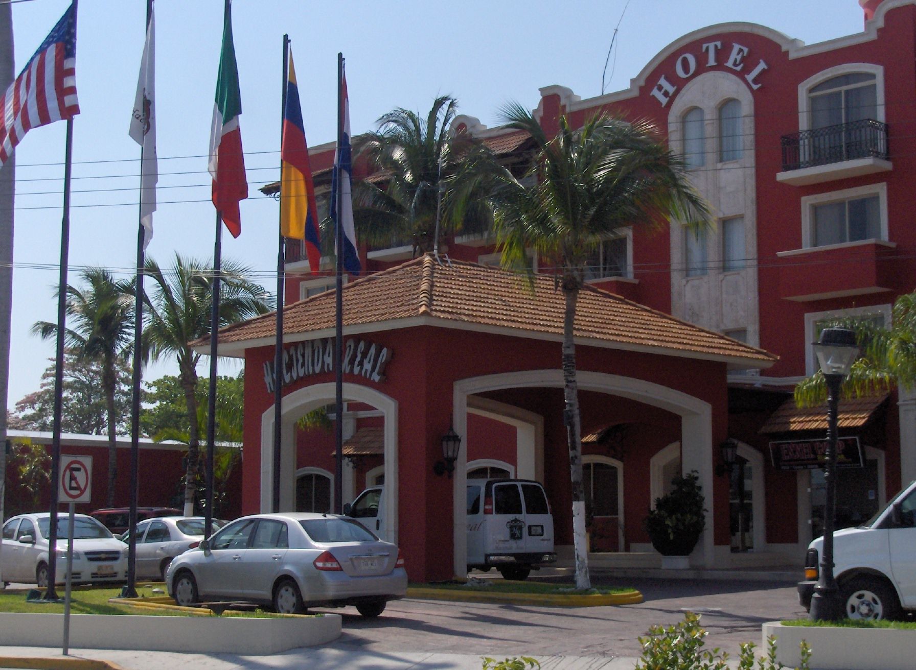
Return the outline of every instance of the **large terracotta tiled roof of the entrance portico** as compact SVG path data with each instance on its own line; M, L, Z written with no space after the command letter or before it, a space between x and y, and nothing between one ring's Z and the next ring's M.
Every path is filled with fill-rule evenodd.
M344 286L343 302L344 329L372 330L365 327L377 324L378 330L393 330L429 324L562 340L564 297L553 276L535 275L529 286L516 273L464 261L437 262L430 254L351 282ZM318 331L323 332L312 337L326 336L334 328L334 307L333 291L287 305L284 337L304 340L308 338L302 334ZM407 319L409 323L398 325ZM220 330L220 353L238 355L245 348L269 344L275 324L276 316L270 313L225 327ZM589 285L579 294L575 336L584 344L752 367L769 367L778 358ZM205 351L209 339L196 340L192 346Z

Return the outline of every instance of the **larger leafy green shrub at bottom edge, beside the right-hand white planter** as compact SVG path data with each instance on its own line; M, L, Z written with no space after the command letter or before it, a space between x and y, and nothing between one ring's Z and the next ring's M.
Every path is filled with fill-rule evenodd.
M636 670L728 670L728 654L718 647L703 649L709 633L700 626L700 615L689 611L684 621L668 626L652 626L647 637L638 638L642 655ZM741 645L738 670L781 670L776 661L776 639L767 640L767 655L754 657L754 643ZM802 642L802 663L795 670L809 670L811 647Z

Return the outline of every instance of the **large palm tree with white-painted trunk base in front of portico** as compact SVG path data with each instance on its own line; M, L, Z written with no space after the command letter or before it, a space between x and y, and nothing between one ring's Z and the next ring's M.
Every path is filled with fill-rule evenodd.
M565 297L562 372L564 422L573 489L576 586L588 589L582 441L573 344L576 303L585 265L605 237L631 225L661 227L676 219L694 228L708 225L710 212L693 189L684 163L646 121L627 122L598 114L578 130L565 116L548 137L518 103L502 110L509 127L534 140L536 155L519 180L493 159L469 161L460 175L464 189L489 186L497 249L504 267L531 272L527 251L557 266ZM472 176L475 176L472 178ZM477 184L474 184L474 181ZM534 183L534 186L524 184ZM467 190L463 191L466 197Z

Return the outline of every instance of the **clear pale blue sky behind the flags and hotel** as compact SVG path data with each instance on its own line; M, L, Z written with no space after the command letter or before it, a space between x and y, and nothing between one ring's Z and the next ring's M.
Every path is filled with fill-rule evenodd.
M13 5L16 71L63 14L64 0ZM234 40L242 91L242 140L249 199L242 235L223 237L224 257L250 266L272 290L277 202L256 188L278 178L282 36L289 33L302 116L312 146L336 134L337 52L344 53L354 134L395 108L426 112L452 94L460 112L496 123L507 101L529 108L538 89L561 84L583 98L601 92L605 56L626 0L461 3L400 0L347 3L235 0ZM77 38L71 282L81 267L104 265L119 276L136 261L139 147L127 136L143 47L143 0L82 0ZM206 158L223 26L222 0L157 0L159 190L155 236L147 254L168 265L174 254L213 255L213 206ZM631 0L608 65L605 92L629 80L663 49L699 27L748 21L806 43L858 32L856 0ZM613 70L613 76L611 71ZM56 319L65 125L28 133L16 149L16 240L9 402L38 389L53 342L29 334ZM171 204L167 204L172 201ZM237 366L221 362L221 372ZM151 379L175 373L154 364ZM205 371L202 371L204 374Z

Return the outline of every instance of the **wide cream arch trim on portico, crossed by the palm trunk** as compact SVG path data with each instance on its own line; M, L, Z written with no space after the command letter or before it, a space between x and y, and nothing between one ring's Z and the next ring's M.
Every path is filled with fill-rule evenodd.
M582 391L619 395L646 405L660 407L681 416L682 467L697 470L703 491L713 491L713 408L712 405L689 394L642 379L617 374L579 371L576 382ZM467 435L468 395L505 388L562 388L562 370L527 370L518 373L487 374L458 380L453 385L454 429ZM455 463L453 479L453 539L454 574L466 574L467 534L466 486L467 449L461 449ZM708 505L712 510L713 505ZM697 565L713 567L715 561L713 512L708 516L703 538L694 550Z

